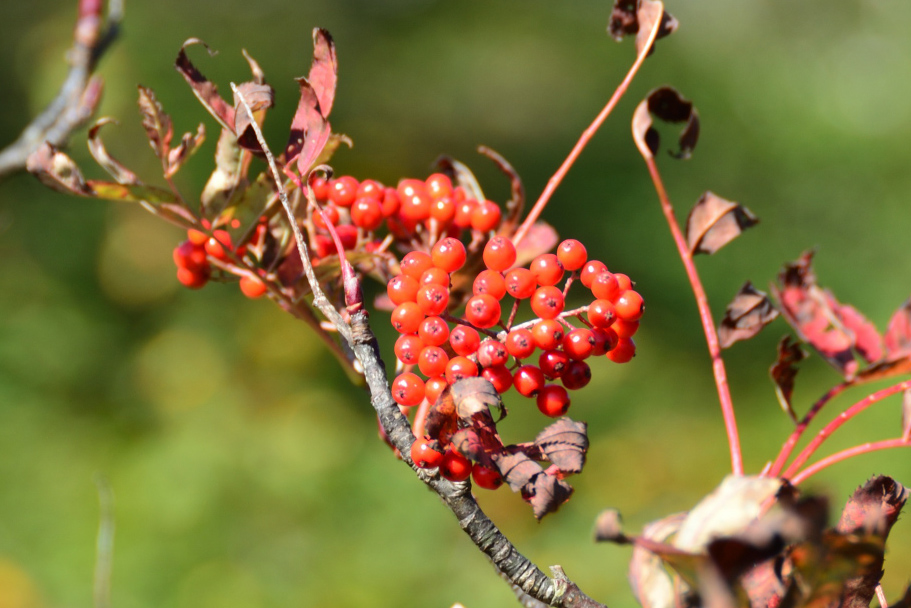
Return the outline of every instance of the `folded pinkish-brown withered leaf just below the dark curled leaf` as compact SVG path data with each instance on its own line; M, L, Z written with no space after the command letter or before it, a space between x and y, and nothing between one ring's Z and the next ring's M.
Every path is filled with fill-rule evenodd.
M692 254L711 255L758 223L743 205L706 192L686 218L686 243Z

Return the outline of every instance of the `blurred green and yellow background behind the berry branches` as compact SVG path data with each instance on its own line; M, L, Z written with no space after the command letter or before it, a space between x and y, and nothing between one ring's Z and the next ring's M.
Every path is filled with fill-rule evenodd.
M0 142L53 96L75 4L4 6ZM911 291L911 4L668 8L680 30L659 44L545 213L561 235L638 282L648 304L639 355L595 365L592 385L574 396L571 414L589 422L592 447L560 513L539 524L508 490L479 497L526 555L562 564L611 606L634 605L629 551L592 543L599 510L619 508L638 530L690 507L729 470L696 308L629 135L645 93L673 84L703 120L691 161L661 160L680 216L711 189L762 219L699 259L716 316L745 280L766 285L814 246L821 283L881 329ZM306 73L310 31L321 26L336 39L341 69L332 123L355 141L335 157L339 171L394 183L426 176L448 153L503 200L507 184L475 152L486 144L536 196L633 60L631 42L605 34L609 9L543 0L128 2L123 36L100 65L100 114L121 121L106 141L154 183L157 161L135 106L136 85L153 88L178 132L200 121L209 129L178 176L195 196L216 129L172 68L181 42L198 36L221 52L193 58L222 91L248 77L246 48L276 89L266 131L283 142L293 77ZM84 140L78 134L70 151L100 177ZM171 249L181 238L135 207L68 198L27 175L0 184L0 608L91 604L95 472L117 501L117 608L514 605L452 516L376 440L366 395L302 324L234 286L178 288ZM727 354L753 472L791 428L767 376L786 331L777 321ZM798 411L837 379L807 361ZM542 417L527 401L511 403L505 438L533 436ZM892 399L826 452L898 429ZM909 454L860 458L807 487L837 506L879 472L911 483ZM911 529L900 522L887 595L909 570Z

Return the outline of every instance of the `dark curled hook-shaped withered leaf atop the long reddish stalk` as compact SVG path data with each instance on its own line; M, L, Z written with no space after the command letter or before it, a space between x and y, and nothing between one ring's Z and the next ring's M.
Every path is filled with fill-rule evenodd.
M689 158L699 139L699 114L693 103L672 87L654 89L639 103L633 114L633 140L646 159L654 158L661 144L652 116L664 122L686 123L678 140L680 151L671 155L678 159Z

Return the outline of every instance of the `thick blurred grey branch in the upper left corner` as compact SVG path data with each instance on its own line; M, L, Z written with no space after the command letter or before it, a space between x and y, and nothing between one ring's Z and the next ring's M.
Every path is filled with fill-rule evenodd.
M95 113L101 100L102 79L93 76L98 60L120 31L123 0L110 0L102 17L102 0L80 0L73 31L73 46L67 51L69 72L57 96L29 124L19 138L0 151L0 179L21 171L38 146L46 141L64 146L70 135Z

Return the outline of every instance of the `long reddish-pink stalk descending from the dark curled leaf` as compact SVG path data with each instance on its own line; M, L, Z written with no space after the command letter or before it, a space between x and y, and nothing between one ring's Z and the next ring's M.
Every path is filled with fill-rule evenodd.
M658 166L655 164L653 156L642 156L645 164L648 166L649 175L652 183L655 185L655 192L661 201L661 210L667 220L671 235L674 237L674 243L677 245L677 252L680 260L686 269L686 276L690 281L693 289L693 295L696 297L696 304L699 307L699 318L702 319L702 331L705 333L705 341L709 347L709 354L712 358L712 371L715 374L715 386L718 389L718 400L721 402L721 413L724 416L724 426L727 430L728 445L731 450L731 470L735 475L743 475L743 456L740 452L740 436L737 431L737 419L734 416L734 404L731 400L731 389L728 386L727 371L724 366L724 359L721 356L721 346L718 344L718 332L715 329L715 321L712 319L712 311L709 308L708 298L705 295L705 288L699 278L699 272L693 263L693 255L686 245L680 226L677 224L677 218L674 215L674 207L667 196L667 190L664 188L664 182L661 180L661 174L658 172Z

